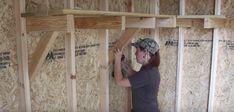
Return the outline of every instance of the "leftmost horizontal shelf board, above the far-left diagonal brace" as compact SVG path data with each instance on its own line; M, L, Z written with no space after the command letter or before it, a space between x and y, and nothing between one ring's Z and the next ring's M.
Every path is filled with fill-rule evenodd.
M27 17L27 31L66 31L66 16Z

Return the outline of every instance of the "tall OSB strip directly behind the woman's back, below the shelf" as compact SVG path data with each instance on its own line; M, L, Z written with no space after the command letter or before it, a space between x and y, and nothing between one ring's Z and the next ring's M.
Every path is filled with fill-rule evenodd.
M161 82L158 93L159 108L162 112L173 112L175 104L178 30L160 29L159 66Z

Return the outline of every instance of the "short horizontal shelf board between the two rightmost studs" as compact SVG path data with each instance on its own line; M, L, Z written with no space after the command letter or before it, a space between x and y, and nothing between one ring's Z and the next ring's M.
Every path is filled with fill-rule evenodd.
M176 20L177 27L204 27L203 19L177 19Z

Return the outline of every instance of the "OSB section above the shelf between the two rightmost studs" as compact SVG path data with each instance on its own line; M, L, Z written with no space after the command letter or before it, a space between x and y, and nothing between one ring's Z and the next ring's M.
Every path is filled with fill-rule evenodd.
M186 15L212 15L214 14L215 0L186 0Z

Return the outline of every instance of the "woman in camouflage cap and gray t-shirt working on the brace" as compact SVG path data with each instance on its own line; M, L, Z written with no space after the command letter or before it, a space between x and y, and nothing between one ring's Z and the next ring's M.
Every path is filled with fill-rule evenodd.
M160 84L158 66L159 45L150 38L140 39L132 44L136 48L136 61L142 64L140 71L132 69L128 77L121 72L122 50L115 49L114 75L116 84L131 87L133 112L159 112L157 96Z

